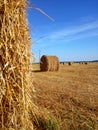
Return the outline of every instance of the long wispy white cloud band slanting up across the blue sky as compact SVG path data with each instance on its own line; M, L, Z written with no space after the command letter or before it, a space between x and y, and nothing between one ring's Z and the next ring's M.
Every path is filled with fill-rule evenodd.
M86 24L68 26L58 31L51 31L45 36L39 37L34 44L37 47L50 47L57 44L65 44L79 39L98 37L98 20L89 21Z

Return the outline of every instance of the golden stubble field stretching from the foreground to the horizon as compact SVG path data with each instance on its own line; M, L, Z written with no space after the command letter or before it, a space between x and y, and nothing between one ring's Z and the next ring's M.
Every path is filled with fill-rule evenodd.
M98 130L98 63L60 64L58 72L41 72L39 65L32 68L35 103L59 124L47 130Z

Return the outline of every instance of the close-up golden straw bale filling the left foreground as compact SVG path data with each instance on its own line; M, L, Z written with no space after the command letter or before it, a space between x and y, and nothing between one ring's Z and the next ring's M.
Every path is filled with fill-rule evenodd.
M0 0L0 130L33 130L26 0Z

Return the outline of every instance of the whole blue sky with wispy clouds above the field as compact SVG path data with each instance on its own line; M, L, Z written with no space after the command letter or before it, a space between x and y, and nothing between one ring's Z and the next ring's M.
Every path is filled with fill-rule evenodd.
M60 61L98 59L98 0L30 0L28 21L35 61L56 55Z

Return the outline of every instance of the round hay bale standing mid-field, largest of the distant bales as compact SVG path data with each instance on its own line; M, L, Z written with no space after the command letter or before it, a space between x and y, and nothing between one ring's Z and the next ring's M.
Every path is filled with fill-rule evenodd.
M58 57L43 55L40 59L40 70L41 71L58 71L59 70Z

